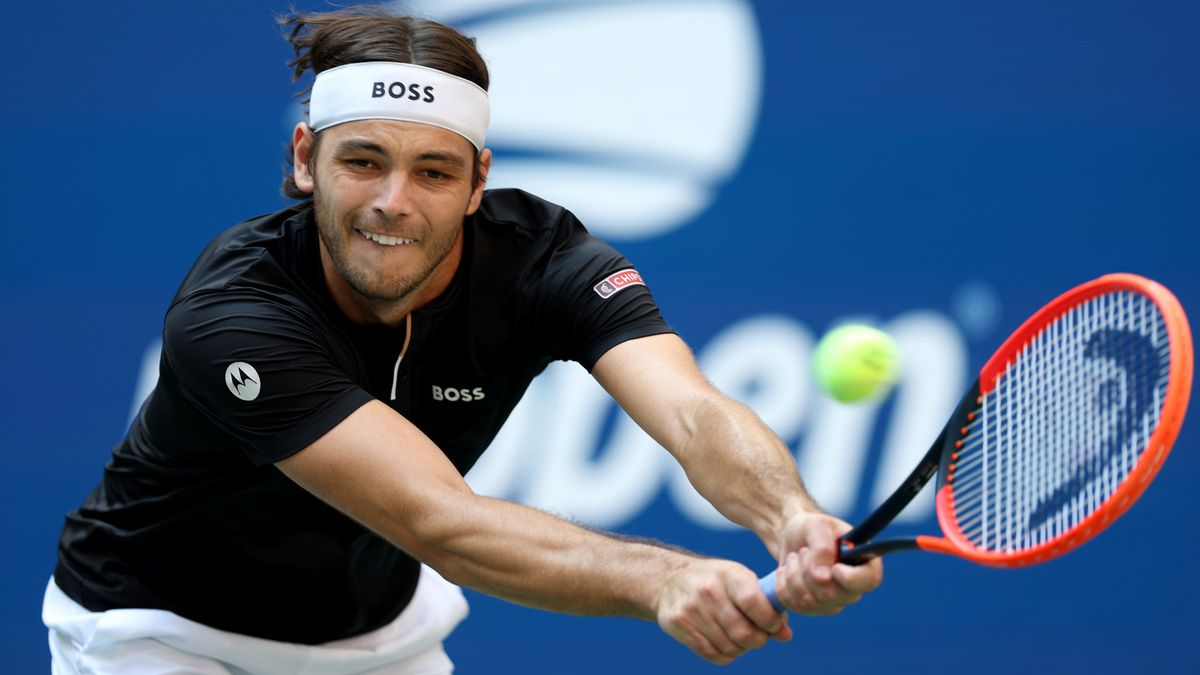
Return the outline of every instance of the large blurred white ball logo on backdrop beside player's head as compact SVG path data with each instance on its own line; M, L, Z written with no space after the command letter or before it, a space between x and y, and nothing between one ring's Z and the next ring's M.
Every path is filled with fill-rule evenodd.
M762 48L746 0L410 0L492 72L488 187L571 209L611 240L688 225L740 166Z

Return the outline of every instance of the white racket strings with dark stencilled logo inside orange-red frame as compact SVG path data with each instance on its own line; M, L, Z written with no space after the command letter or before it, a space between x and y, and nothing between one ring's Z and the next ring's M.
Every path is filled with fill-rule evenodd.
M1169 370L1165 322L1141 294L1099 295L1048 324L965 428L953 472L959 530L1008 552L1078 527L1136 465Z

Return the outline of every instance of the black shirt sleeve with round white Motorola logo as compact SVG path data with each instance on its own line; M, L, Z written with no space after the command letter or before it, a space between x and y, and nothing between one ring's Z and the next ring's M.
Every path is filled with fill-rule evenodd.
M316 312L258 291L181 299L167 312L162 363L168 386L257 465L304 449L372 398Z

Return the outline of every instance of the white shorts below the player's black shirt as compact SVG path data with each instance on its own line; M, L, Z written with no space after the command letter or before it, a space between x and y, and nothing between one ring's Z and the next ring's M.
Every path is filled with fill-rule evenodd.
M440 675L454 671L442 641L466 616L458 586L426 566L395 621L322 645L217 631L160 609L90 611L53 578L42 604L53 675Z

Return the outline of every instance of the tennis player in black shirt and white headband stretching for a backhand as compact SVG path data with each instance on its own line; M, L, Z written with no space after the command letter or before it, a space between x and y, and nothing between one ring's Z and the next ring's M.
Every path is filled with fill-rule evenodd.
M560 207L484 190L472 40L373 8L284 25L295 76L316 73L298 203L217 237L172 301L158 384L66 518L54 673L450 673L460 585L656 621L715 663L790 639L742 565L472 492L462 474L559 359L757 533L788 608L835 614L880 584L877 561L835 565L848 526L629 261Z

